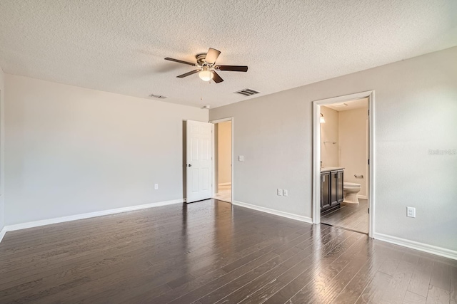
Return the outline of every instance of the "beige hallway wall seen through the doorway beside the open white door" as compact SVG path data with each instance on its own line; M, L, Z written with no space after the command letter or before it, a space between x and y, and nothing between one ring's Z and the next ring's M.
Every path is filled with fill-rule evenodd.
M218 182L231 183L231 121L218 124Z

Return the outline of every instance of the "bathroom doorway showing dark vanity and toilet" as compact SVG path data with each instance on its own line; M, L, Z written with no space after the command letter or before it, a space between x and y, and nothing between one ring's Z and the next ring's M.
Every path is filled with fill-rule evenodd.
M314 102L313 223L373 233L373 92ZM369 213L371 210L371 214Z

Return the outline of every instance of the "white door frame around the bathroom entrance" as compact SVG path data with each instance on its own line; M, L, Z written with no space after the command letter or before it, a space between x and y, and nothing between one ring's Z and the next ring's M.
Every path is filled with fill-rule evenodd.
M368 90L361 93L343 95L333 98L313 101L313 224L321 223L321 105L330 105L332 103L343 103L345 101L368 98L368 203L369 203L369 221L368 236L373 238L375 229L375 130L374 130L374 90Z

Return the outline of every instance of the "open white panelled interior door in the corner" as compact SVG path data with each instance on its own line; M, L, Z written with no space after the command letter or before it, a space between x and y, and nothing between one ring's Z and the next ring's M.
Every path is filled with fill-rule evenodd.
M212 130L209 122L186 122L186 199L188 203L211 198L213 174Z

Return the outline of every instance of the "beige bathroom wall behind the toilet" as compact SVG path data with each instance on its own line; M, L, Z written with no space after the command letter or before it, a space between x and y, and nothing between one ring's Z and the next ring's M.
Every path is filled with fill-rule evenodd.
M366 199L368 180L367 119L368 103L365 108L338 112L338 167L345 168L344 182L361 184L358 195L363 199ZM363 175L363 179L354 177L354 174Z

